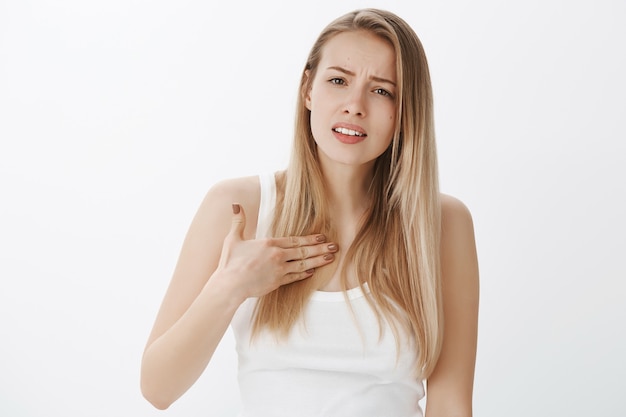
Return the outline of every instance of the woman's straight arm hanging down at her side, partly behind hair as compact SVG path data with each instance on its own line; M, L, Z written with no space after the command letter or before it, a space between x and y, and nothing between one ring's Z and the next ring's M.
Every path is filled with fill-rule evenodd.
M471 417L478 332L478 261L472 217L442 195L444 337L427 381L426 417Z

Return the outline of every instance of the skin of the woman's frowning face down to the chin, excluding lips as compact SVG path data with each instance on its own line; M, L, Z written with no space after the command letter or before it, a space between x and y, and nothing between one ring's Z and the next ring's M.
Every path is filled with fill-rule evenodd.
M324 170L345 165L352 170L361 167L364 177L370 174L393 137L395 84L395 52L386 41L363 31L341 33L328 41L305 98ZM334 127L366 136L346 144Z

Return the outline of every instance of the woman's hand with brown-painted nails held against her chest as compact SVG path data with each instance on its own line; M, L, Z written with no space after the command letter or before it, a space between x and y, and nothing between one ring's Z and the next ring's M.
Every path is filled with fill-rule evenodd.
M338 246L321 234L245 240L243 207L233 204L230 232L212 280L232 280L242 299L263 296L281 285L310 278L335 259Z

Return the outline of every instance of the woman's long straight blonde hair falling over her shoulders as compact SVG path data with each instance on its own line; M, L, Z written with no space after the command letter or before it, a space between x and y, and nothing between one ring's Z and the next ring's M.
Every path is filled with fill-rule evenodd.
M368 301L379 321L384 317L392 324L396 340L398 328L415 339L416 374L426 378L439 356L443 321L432 88L421 42L393 13L377 9L348 13L330 23L313 45L300 82L291 160L278 181L272 231L275 236L334 236L304 96L326 42L339 33L359 30L373 33L394 47L398 123L391 145L375 162L371 205L345 254L342 272L349 265L360 285L367 283ZM341 276L345 290L346 274ZM319 279L298 281L262 297L255 311L254 334L268 328L286 335L319 284Z

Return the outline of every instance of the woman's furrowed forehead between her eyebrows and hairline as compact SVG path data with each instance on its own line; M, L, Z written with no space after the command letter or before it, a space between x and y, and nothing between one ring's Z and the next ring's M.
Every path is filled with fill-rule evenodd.
M350 71L366 70L373 75L396 79L396 54L385 39L364 30L342 32L322 48L320 69L340 66Z

